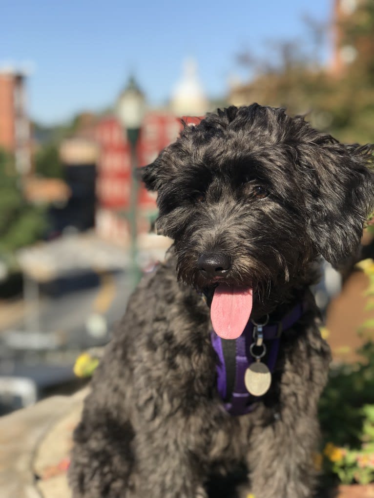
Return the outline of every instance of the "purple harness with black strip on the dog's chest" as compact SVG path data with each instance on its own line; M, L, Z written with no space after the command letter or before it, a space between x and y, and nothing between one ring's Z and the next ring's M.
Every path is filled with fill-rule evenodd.
M306 310L303 301L294 306L280 322L262 326L263 340L267 343L269 352L266 365L273 373L278 357L281 333L294 325ZM224 402L225 409L231 415L244 415L254 408L254 403L261 399L250 394L244 384L244 374L254 358L250 354L250 347L254 341L253 330L255 325L248 321L243 333L236 340L221 339L212 330L211 342L218 355L217 390ZM228 382L230 377L230 382ZM232 384L229 386L228 384Z

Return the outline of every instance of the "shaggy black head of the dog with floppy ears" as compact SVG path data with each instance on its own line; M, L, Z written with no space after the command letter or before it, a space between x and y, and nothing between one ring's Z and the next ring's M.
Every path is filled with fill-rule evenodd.
M179 277L215 288L213 307L251 308L253 294L260 315L308 283L319 254L336 265L357 249L374 206L372 151L253 104L186 127L142 173Z

